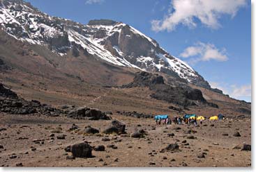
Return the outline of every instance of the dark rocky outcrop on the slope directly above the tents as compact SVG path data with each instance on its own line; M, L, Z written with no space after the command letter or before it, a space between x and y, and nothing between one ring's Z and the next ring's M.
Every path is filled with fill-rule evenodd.
M188 86L172 87L165 84L163 76L150 74L145 71L137 72L133 82L128 85L123 85L122 87L149 87L149 89L153 91L153 94L151 94L152 98L181 105L183 107L201 103L218 108L218 105L208 103L199 89L193 89Z

